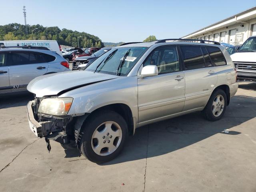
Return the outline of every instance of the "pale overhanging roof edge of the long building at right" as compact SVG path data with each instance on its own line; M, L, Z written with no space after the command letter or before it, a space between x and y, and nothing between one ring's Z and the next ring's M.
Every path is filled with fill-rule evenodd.
M248 10L245 10L243 12L240 12L236 15L233 15L229 18L226 18L224 20L221 20L219 22L216 22L210 26L206 26L200 30L197 30L196 32L190 33L186 36L183 36L181 38L191 38L192 36L197 36L200 34L204 34L213 30L217 30L219 28L223 28L225 26L229 26L235 23L239 22L246 22L247 20L250 20L252 18L256 18L256 7L252 7Z

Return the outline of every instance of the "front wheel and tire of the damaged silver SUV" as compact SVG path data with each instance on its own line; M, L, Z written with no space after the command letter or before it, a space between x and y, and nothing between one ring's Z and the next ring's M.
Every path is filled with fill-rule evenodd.
M122 149L128 135L124 118L111 110L102 110L89 116L82 126L84 132L79 149L95 163L114 159Z

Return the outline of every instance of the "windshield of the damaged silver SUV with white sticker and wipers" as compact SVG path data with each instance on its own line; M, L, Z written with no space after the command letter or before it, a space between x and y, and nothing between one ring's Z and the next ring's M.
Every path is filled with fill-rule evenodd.
M126 76L146 52L146 47L114 48L96 59L85 70L98 73ZM124 56L126 55L125 59Z

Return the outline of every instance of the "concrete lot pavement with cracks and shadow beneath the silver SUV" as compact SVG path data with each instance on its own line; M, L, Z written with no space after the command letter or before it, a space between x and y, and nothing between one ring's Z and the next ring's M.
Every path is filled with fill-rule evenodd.
M0 98L1 192L256 191L256 84L240 84L222 120L197 112L139 128L100 165L56 142L49 154L28 127L32 99Z

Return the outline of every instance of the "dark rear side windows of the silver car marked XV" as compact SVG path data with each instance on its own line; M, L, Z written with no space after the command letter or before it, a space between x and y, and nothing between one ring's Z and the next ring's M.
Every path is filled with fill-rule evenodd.
M55 57L36 52L12 52L10 58L10 65L25 65L25 64L36 64L46 63L54 61Z

